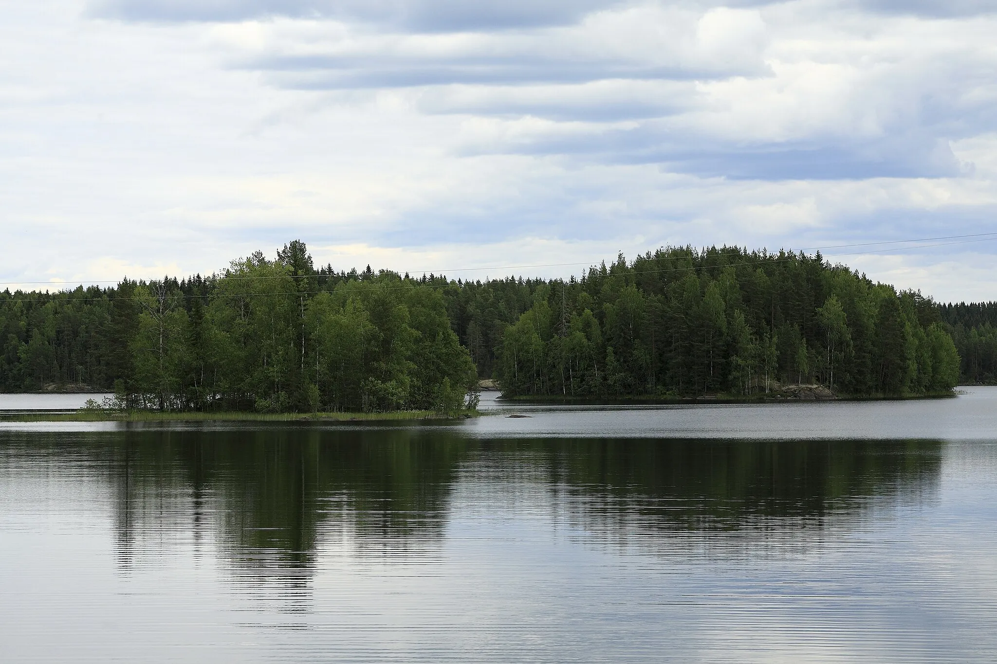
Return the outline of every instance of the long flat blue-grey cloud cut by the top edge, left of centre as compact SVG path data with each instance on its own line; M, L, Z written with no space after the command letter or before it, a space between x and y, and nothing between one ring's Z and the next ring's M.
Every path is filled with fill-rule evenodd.
M125 21L242 21L287 16L424 32L563 25L619 0L95 0L94 16Z

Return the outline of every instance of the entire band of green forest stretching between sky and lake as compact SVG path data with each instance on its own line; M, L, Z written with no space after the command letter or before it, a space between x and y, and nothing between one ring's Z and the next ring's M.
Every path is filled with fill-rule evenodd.
M995 317L820 253L665 248L483 283L316 269L294 241L203 278L0 293L0 389L273 412L455 410L479 377L520 396L916 395L993 380Z

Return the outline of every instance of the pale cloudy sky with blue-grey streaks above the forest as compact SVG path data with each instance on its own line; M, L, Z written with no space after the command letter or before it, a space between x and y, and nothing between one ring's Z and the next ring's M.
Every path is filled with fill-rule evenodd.
M0 0L0 288L300 239L464 279L822 248L997 300L994 35L997 0Z

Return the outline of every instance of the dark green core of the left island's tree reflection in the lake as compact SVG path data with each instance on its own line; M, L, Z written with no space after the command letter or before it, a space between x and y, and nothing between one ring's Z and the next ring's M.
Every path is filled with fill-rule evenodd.
M210 510L237 558L305 566L327 528L388 548L439 536L464 448L404 429L142 432L123 446L139 460L136 483L190 487L194 523Z

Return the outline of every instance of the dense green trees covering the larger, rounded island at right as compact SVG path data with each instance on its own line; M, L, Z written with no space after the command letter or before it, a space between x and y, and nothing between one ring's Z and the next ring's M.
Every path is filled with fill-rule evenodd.
M444 288L479 370L518 395L748 395L823 383L944 392L959 356L939 308L820 253L663 248L580 279Z

